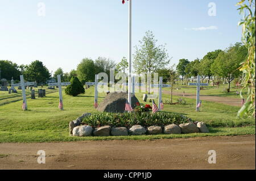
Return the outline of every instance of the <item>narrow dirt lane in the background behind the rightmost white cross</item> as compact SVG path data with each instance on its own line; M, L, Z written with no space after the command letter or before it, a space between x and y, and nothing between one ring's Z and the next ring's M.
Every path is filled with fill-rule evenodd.
M164 94L171 94L171 91L163 91ZM182 92L172 92L173 95L183 96ZM196 94L185 93L185 98L196 99ZM222 104L228 104L230 106L241 106L241 99L238 98L228 98L222 96L209 96L209 95L200 95L201 100L207 100Z

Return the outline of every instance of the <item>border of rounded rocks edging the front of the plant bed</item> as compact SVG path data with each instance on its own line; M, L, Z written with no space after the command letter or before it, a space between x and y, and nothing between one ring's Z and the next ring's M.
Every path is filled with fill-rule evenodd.
M141 125L133 125L130 129L125 127L104 127L93 128L89 125L81 125L84 117L90 116L91 113L84 113L76 120L69 122L69 133L71 136L128 136L143 134L189 134L189 133L209 133L204 122L183 123L180 125L169 124L163 128L160 126L142 127Z

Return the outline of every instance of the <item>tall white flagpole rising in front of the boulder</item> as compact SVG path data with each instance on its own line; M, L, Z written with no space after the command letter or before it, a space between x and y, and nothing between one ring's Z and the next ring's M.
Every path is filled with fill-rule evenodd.
M129 74L128 74L128 101L131 105L131 1L129 1L129 50L128 50L128 59L129 59Z

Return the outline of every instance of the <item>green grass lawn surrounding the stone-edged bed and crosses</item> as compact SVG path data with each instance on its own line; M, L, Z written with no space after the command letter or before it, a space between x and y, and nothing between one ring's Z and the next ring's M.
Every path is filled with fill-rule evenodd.
M64 88L64 87L63 87ZM63 89L64 90L64 89ZM21 90L18 90L20 95ZM52 91L52 90L49 90ZM8 94L8 92L7 92ZM255 134L254 119L237 119L236 113L239 107L227 106L220 103L203 102L201 112L195 111L195 99L188 99L187 105L164 105L164 111L183 113L193 120L205 121L210 127L210 133L180 134L180 135L156 135L156 136L126 136L126 137L72 137L68 133L69 121L75 120L85 112L96 112L93 108L94 89L85 90L85 94L73 97L65 95L63 91L64 111L60 111L59 92L47 92L46 98L32 100L28 98L28 111L22 111L22 100L12 102L12 98L2 99L8 96L0 91L0 142L45 142L45 141L75 141L75 140L144 140L175 137L195 136L225 136ZM9 96L14 96L11 94ZM29 97L29 96L28 96ZM99 102L105 94L99 94ZM142 93L137 94L142 101ZM169 99L170 95L163 95ZM177 97L174 96L174 100ZM10 102L8 103L8 100ZM157 101L157 100L156 100ZM148 104L151 104L147 102ZM249 125L246 127L246 125Z

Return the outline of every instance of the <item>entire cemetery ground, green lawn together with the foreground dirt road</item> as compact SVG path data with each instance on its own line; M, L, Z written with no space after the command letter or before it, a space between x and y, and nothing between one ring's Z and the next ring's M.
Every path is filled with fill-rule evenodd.
M163 111L204 121L210 133L120 137L69 136L69 121L96 112L94 87L76 97L65 95L63 87L64 111L58 109L58 89L46 89L46 98L35 100L26 90L28 111L22 111L21 90L17 94L0 91L0 169L255 169L255 120L237 119L240 106L221 103L221 99L239 102L241 98L234 89L230 93L222 89L201 90L200 112L190 97L196 94L195 87L180 85L174 90L174 103L181 97L185 105L164 104ZM170 100L170 88L163 93L163 102ZM100 103L105 94L98 96ZM136 96L142 102L142 93ZM220 99L204 100L210 96ZM212 149L217 150L217 164L207 162ZM36 162L38 150L46 150L48 164Z

